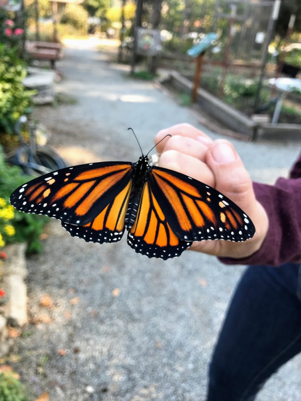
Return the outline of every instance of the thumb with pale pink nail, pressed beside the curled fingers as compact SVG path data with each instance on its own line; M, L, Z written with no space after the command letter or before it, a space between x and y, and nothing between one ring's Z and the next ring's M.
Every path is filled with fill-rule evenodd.
M245 213L252 212L256 201L252 181L234 146L226 140L216 140L207 150L206 162L215 176L216 190Z

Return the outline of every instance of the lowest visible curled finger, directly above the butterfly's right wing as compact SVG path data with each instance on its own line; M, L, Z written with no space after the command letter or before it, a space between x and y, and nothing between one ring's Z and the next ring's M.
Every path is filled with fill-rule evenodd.
M159 167L180 172L210 186L215 185L214 174L207 164L177 150L167 150L162 153L159 158Z

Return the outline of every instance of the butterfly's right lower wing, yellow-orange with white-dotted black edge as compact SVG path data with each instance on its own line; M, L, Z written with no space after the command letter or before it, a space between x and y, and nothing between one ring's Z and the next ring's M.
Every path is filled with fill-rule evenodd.
M150 184L146 182L135 223L128 232L128 245L147 257L166 260L181 255L191 244L175 236Z

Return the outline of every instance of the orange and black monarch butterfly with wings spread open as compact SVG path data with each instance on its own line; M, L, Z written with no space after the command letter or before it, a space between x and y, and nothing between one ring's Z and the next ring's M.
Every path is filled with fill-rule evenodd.
M120 241L126 228L137 253L164 260L181 255L193 241L253 237L252 221L230 199L184 174L150 166L139 147L136 163L63 168L20 186L10 203L61 220L72 237L86 242Z

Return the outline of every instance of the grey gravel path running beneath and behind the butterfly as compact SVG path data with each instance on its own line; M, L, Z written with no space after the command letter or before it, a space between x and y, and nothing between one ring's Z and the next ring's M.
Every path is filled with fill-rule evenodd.
M58 90L78 103L41 107L35 115L71 164L136 160L129 126L144 150L158 130L179 122L218 137L152 83L126 77L127 67L109 64L92 45L70 42L58 68ZM232 142L262 182L286 174L300 148ZM49 391L52 401L204 400L210 355L244 267L188 251L169 261L147 259L125 239L87 244L56 221L47 234L44 252L28 259L29 310L40 323L28 325L14 349L21 358L14 367L33 398ZM44 294L50 308L39 306ZM258 401L300 400L300 370L297 356L266 383Z

